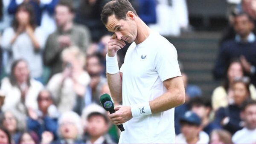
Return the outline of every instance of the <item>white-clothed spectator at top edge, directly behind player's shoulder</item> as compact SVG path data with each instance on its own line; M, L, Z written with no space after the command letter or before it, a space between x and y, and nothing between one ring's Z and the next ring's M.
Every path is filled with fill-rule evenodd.
M164 36L179 36L189 26L186 0L157 0L157 23L150 28ZM170 24L172 22L172 24Z

